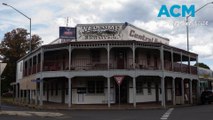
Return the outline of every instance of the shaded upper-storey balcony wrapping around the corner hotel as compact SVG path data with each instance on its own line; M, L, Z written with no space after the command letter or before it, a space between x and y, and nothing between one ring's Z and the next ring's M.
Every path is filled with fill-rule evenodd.
M189 66L196 58L159 49L129 47L81 48L46 51L43 56L42 71L89 71L89 70L162 70L197 75L197 67ZM41 71L40 56L25 61L24 76ZM38 58L36 58L38 57ZM70 58L70 59L69 59ZM163 61L163 64L162 64ZM30 64L32 63L32 64ZM164 66L162 66L164 65ZM28 67L29 66L29 67Z

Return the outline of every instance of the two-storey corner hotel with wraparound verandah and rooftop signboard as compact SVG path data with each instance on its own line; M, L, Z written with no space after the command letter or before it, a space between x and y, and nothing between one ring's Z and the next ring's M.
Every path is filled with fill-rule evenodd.
M128 23L75 29L75 40L43 45L17 62L18 101L165 107L198 100L197 54Z

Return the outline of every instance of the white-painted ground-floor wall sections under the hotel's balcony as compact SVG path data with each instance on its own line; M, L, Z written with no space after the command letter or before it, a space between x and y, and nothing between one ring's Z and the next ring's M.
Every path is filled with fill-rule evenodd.
M110 90L111 91L111 93L110 93L110 102L111 103L116 103L115 85L116 84L114 84L114 82L111 83L111 87L112 87ZM106 82L105 82L105 86L106 86ZM159 84L159 86L160 86L160 84ZM86 81L74 82L73 87L86 87ZM62 91L60 89L61 88L59 88L57 95L56 95L56 90L53 90L53 95L51 95L51 90L49 90L49 100L48 101L61 103ZM128 89L127 103L133 103L132 81L129 81L129 87L127 89ZM162 94L160 92L160 89L159 89L158 94L159 94L158 99L159 99L159 101L161 101ZM171 101L172 100L171 89L167 89L167 95L168 95L167 100ZM47 100L47 91L44 91L43 100L44 101ZM143 93L136 94L136 102L137 103L156 102L156 89L155 89L154 83L152 83L151 94L148 93L147 88L143 89ZM65 103L68 103L68 94L65 95ZM90 94L90 93L79 94L79 93L77 93L77 89L73 88L72 89L72 104L107 104L107 89L105 88L104 93L101 93L101 94Z

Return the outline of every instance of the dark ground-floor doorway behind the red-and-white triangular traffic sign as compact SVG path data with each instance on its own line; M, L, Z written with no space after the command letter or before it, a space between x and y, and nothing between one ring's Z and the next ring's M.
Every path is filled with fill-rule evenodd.
M116 98L116 103L119 103L119 86L115 81L115 98ZM124 79L120 85L120 103L127 103L128 99L128 80Z

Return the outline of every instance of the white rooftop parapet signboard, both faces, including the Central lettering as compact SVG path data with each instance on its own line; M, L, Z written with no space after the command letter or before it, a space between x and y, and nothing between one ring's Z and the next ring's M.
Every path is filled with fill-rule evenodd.
M169 44L169 39L139 29L128 23L78 24L77 41L136 40Z

